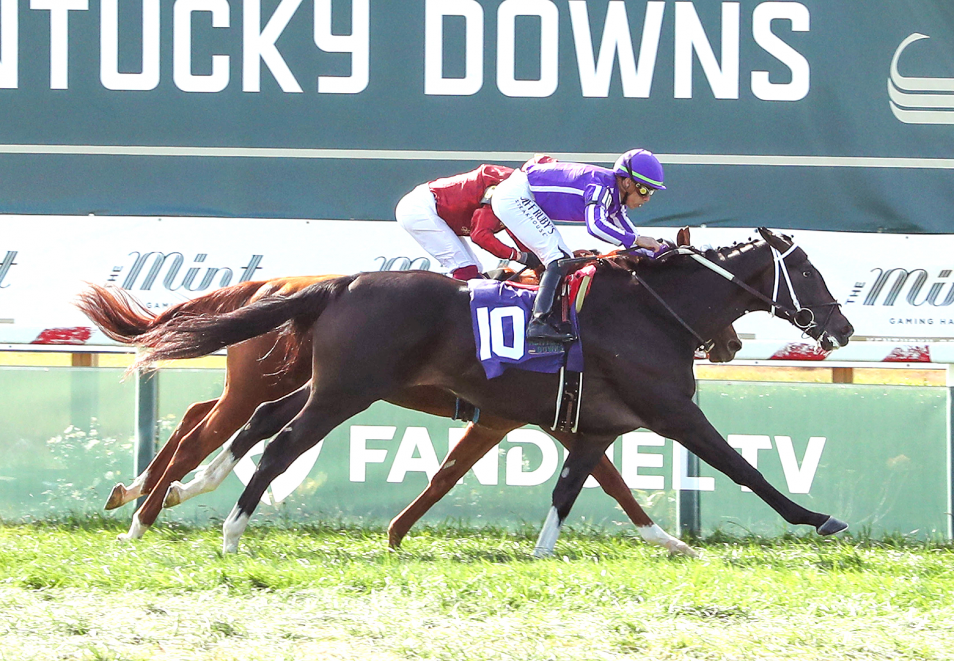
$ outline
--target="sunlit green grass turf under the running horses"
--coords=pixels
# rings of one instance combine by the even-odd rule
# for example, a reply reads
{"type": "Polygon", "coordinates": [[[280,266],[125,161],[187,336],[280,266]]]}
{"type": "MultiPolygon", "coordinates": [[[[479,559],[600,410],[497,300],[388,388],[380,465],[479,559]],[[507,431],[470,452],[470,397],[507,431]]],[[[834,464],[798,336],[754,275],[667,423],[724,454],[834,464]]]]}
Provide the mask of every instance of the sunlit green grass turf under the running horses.
{"type": "Polygon", "coordinates": [[[954,659],[954,547],[109,522],[0,527],[6,659],[954,659]]]}

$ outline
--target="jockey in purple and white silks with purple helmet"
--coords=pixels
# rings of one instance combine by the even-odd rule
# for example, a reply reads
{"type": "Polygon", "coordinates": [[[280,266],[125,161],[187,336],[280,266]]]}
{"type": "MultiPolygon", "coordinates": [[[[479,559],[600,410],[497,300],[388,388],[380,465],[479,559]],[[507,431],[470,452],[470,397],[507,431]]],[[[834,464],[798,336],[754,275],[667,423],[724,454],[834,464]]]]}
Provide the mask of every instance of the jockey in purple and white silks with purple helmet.
{"type": "Polygon", "coordinates": [[[527,326],[528,341],[573,340],[569,329],[550,319],[556,288],[563,278],[557,261],[572,255],[553,220],[585,222],[593,237],[624,248],[661,249],[642,237],[626,216],[665,190],[662,164],[645,149],[633,149],[616,159],[612,170],[585,163],[554,162],[515,171],[491,199],[493,213],[524,243],[547,270],[527,326]]]}

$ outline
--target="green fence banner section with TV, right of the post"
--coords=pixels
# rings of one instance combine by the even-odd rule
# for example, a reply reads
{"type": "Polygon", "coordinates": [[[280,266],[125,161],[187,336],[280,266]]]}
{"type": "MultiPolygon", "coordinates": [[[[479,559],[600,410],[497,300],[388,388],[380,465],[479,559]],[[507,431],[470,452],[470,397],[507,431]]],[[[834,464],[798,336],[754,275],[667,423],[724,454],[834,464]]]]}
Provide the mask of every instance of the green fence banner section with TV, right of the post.
{"type": "MultiPolygon", "coordinates": [[[[699,400],[722,435],[798,504],[854,532],[949,536],[945,388],[700,382],[699,400]]],[[[705,530],[788,529],[755,494],[707,465],[701,473],[715,478],[715,490],[700,494],[705,530]]]]}

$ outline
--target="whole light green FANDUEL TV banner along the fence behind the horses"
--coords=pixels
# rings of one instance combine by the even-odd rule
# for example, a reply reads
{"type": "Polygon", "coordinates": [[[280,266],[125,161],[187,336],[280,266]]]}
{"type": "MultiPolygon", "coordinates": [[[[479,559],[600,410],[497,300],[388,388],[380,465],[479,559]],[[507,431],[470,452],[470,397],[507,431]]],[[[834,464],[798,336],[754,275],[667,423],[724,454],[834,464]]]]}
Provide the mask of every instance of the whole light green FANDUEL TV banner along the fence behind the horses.
{"type": "MultiPolygon", "coordinates": [[[[115,482],[129,484],[135,384],[120,382],[120,375],[117,369],[0,368],[0,517],[97,511],[115,482]]],[[[219,370],[162,370],[161,440],[190,403],[218,397],[221,384],[219,370]]],[[[946,388],[699,382],[699,401],[729,443],[798,503],[844,519],[856,532],[949,536],[946,388]]],[[[276,479],[256,517],[384,524],[425,488],[463,427],[376,403],[276,479]]],[[[162,517],[197,524],[224,517],[261,449],[217,491],[162,517]]],[[[708,466],[701,477],[686,475],[684,451],[651,432],[624,435],[611,454],[639,502],[670,530],[679,489],[699,491],[704,532],[789,529],[754,494],[708,466]]],[[[511,432],[424,521],[536,526],[563,459],[562,448],[539,429],[511,432]]],[[[114,516],[128,518],[130,507],[114,516]]],[[[575,526],[615,529],[626,521],[592,480],[570,516],[575,526]]]]}

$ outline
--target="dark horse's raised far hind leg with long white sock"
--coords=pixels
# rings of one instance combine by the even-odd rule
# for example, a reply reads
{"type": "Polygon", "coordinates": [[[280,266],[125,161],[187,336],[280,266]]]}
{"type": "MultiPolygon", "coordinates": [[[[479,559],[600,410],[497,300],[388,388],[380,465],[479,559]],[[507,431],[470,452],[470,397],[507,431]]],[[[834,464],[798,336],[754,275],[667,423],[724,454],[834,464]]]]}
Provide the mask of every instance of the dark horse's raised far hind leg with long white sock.
{"type": "Polygon", "coordinates": [[[163,506],[172,507],[183,503],[197,495],[207,493],[218,488],[228,477],[233,468],[239,464],[250,449],[259,441],[279,433],[281,427],[292,420],[301,411],[301,407],[308,401],[311,394],[311,384],[305,383],[295,392],[285,395],[275,402],[260,404],[252,419],[241,428],[238,434],[226,444],[222,451],[212,460],[195,479],[188,484],[174,482],[169,486],[163,506]]]}

